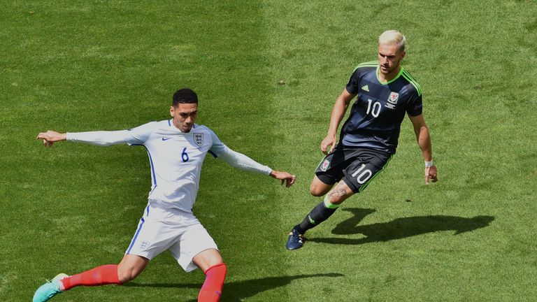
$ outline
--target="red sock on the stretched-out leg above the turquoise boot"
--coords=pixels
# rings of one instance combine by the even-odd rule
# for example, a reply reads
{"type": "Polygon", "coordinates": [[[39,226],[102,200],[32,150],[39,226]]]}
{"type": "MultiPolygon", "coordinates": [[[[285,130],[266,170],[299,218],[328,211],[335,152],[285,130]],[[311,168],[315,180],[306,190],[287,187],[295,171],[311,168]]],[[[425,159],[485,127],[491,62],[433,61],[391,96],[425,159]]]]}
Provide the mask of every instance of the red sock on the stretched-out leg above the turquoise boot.
{"type": "Polygon", "coordinates": [[[73,287],[83,286],[99,286],[108,284],[121,285],[120,278],[117,277],[117,265],[108,264],[99,266],[85,271],[77,275],[72,275],[60,280],[63,288],[62,291],[69,290],[73,287]]]}

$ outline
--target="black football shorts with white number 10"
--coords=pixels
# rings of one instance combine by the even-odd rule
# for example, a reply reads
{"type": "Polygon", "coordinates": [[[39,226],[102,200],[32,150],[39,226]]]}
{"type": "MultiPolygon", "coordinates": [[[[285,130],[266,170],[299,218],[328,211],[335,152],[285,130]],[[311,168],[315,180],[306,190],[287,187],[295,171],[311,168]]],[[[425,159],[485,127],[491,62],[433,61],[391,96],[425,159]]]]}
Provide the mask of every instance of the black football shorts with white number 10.
{"type": "Polygon", "coordinates": [[[338,145],[322,159],[315,175],[327,185],[343,179],[352,192],[359,193],[384,170],[392,156],[380,150],[338,145]]]}

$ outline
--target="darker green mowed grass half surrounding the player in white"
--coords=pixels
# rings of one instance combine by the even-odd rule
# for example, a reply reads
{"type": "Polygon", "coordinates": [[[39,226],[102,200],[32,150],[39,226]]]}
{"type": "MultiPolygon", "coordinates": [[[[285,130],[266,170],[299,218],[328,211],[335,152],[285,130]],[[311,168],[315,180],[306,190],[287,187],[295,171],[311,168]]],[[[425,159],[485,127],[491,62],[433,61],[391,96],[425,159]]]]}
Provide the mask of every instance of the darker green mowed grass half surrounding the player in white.
{"type": "MultiPolygon", "coordinates": [[[[166,119],[171,94],[186,86],[199,92],[200,124],[274,166],[259,3],[12,4],[8,10],[19,13],[3,19],[3,126],[16,134],[2,159],[1,194],[9,201],[3,210],[10,213],[1,224],[9,243],[2,247],[4,300],[28,300],[59,271],[119,261],[150,186],[143,148],[60,143],[45,150],[34,141],[38,131],[125,129],[166,119]]],[[[267,231],[279,184],[210,157],[203,170],[194,211],[229,264],[224,299],[279,286],[255,281],[275,277],[265,263],[279,267],[267,231]]],[[[131,287],[79,288],[57,299],[189,301],[202,282],[203,273],[182,273],[165,253],[131,287]]]]}

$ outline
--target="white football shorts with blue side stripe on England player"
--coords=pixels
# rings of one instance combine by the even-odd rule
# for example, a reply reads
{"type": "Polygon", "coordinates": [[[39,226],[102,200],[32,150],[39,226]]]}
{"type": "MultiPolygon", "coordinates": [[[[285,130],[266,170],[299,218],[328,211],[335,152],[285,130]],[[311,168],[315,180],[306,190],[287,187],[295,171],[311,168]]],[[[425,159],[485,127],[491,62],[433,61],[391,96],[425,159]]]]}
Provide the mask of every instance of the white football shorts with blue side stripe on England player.
{"type": "Polygon", "coordinates": [[[170,250],[173,258],[188,273],[198,268],[192,258],[211,248],[218,250],[215,240],[194,214],[169,210],[150,201],[125,254],[151,260],[170,250]]]}

